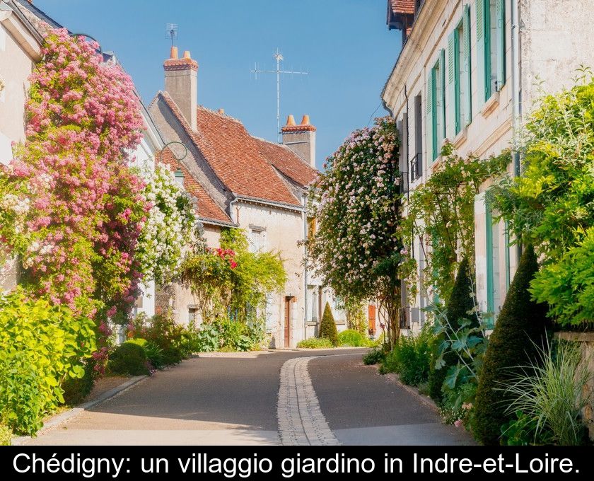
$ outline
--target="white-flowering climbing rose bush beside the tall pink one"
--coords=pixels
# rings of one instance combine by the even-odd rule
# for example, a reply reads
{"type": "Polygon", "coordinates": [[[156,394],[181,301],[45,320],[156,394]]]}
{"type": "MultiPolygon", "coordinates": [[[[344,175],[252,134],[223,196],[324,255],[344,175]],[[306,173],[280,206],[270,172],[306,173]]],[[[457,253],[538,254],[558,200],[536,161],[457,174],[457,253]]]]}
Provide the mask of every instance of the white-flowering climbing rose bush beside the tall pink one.
{"type": "Polygon", "coordinates": [[[136,246],[144,281],[170,282],[177,274],[187,247],[200,239],[201,224],[194,199],[175,182],[169,166],[157,163],[144,169],[144,197],[151,209],[136,246]]]}

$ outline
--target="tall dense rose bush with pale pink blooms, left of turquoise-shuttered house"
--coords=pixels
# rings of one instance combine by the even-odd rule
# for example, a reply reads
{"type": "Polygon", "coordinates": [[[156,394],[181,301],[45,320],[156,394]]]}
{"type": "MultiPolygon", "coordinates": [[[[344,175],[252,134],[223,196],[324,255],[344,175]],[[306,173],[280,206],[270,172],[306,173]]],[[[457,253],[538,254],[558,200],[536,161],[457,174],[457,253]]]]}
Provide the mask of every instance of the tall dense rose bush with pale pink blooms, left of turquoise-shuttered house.
{"type": "Polygon", "coordinates": [[[395,120],[384,117],[353,132],[327,159],[310,196],[318,231],[308,242],[312,268],[344,299],[378,298],[388,331],[398,336],[402,195],[395,120]]]}

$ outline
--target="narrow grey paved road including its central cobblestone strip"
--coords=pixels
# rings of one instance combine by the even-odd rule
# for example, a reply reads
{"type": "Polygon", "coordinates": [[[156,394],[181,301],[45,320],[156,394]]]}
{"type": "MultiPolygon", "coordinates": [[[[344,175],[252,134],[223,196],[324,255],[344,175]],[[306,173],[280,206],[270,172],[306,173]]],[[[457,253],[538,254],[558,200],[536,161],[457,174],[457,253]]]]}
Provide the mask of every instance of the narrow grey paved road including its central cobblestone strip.
{"type": "Polygon", "coordinates": [[[156,373],[29,444],[465,444],[361,349],[221,353],[156,373]],[[300,359],[295,359],[300,358],[300,359]]]}

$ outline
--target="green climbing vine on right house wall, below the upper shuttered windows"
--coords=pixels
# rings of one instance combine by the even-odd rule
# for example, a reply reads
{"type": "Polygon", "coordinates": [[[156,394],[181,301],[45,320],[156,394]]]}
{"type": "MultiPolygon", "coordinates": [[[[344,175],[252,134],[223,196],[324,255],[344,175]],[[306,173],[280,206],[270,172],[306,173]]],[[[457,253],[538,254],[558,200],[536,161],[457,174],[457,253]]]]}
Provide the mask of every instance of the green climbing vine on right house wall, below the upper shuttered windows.
{"type": "MultiPolygon", "coordinates": [[[[402,236],[407,245],[418,238],[424,249],[423,288],[449,299],[458,263],[463,258],[474,259],[474,196],[485,180],[505,172],[510,155],[505,151],[487,160],[463,158],[451,144],[443,146],[441,155],[429,179],[409,196],[402,236]]],[[[407,249],[400,271],[413,296],[416,270],[417,262],[407,249]]]]}

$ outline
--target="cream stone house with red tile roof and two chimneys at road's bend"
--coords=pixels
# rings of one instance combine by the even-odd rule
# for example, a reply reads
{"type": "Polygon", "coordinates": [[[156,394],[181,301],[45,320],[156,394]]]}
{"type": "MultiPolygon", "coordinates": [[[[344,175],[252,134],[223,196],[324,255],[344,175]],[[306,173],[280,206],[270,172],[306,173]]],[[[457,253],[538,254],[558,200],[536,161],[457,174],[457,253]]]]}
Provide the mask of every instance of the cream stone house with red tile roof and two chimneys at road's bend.
{"type": "MultiPolygon", "coordinates": [[[[313,225],[305,209],[308,185],[318,174],[315,127],[308,116],[299,125],[290,116],[282,132],[286,144],[252,137],[222,109],[199,105],[198,64],[190,52],[179,58],[173,47],[163,68],[165,91],[148,109],[165,140],[187,149],[171,144],[164,159],[197,199],[207,245],[219,245],[221,229],[240,228],[252,249],[279,253],[288,282],[269,296],[267,331],[272,347],[295,347],[317,332],[324,303],[332,300],[303,265],[302,241],[313,225]]],[[[170,286],[158,298],[162,308],[173,308],[178,323],[202,322],[194,296],[182,286],[170,286]]]]}

